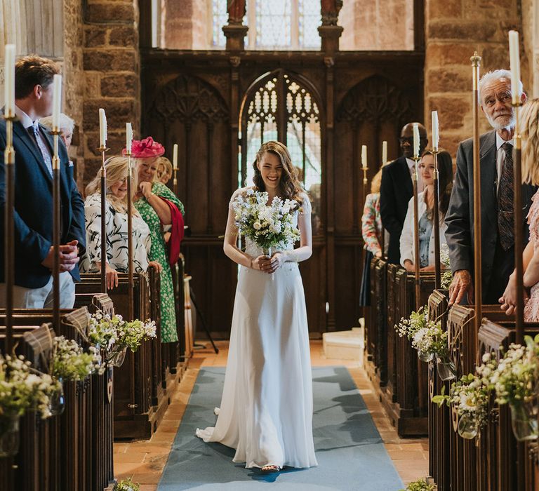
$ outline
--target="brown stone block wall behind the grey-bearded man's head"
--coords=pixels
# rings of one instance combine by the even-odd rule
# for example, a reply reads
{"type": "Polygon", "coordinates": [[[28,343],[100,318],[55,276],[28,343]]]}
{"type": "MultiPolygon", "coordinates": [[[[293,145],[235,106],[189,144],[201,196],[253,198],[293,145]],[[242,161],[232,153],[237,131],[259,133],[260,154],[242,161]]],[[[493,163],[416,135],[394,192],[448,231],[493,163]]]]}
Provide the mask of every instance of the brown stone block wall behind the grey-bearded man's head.
{"type": "MultiPolygon", "coordinates": [[[[472,136],[470,57],[474,50],[481,55],[481,74],[509,68],[507,32],[521,30],[520,4],[520,0],[427,0],[425,3],[425,125],[430,128],[430,114],[436,109],[440,145],[453,156],[458,142],[472,136]]],[[[528,90],[530,76],[524,58],[521,67],[528,90]]],[[[488,128],[481,116],[481,130],[488,128]]]]}

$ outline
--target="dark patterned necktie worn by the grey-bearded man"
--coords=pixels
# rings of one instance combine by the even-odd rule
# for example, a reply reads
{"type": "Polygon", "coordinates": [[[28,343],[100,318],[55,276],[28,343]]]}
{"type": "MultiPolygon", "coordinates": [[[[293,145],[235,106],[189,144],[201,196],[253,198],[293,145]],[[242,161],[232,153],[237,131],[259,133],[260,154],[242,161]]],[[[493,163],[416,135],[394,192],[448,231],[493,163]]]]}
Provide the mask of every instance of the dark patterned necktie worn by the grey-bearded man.
{"type": "Polygon", "coordinates": [[[505,152],[503,168],[498,187],[498,233],[503,250],[508,250],[514,243],[514,175],[513,175],[513,146],[505,142],[502,145],[505,152]]]}

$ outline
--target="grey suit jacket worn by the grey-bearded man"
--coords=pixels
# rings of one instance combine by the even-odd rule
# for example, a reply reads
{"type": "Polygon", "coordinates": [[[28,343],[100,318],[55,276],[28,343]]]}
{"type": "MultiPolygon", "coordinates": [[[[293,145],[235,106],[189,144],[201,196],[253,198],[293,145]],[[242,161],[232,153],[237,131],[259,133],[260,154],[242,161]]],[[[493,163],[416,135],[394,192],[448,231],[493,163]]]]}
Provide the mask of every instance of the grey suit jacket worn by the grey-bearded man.
{"type": "MultiPolygon", "coordinates": [[[[491,279],[495,245],[498,239],[498,199],[496,195],[496,133],[490,131],[479,138],[481,164],[481,265],[483,292],[491,279]]],[[[451,270],[474,271],[474,179],[473,139],[461,142],[457,151],[457,173],[446,213],[446,241],[449,248],[451,270]]],[[[526,215],[535,187],[522,184],[522,217],[524,218],[524,244],[528,242],[526,215]]],[[[514,264],[514,255],[503,258],[507,265],[514,264]]],[[[505,264],[505,263],[504,263],[505,264]]]]}

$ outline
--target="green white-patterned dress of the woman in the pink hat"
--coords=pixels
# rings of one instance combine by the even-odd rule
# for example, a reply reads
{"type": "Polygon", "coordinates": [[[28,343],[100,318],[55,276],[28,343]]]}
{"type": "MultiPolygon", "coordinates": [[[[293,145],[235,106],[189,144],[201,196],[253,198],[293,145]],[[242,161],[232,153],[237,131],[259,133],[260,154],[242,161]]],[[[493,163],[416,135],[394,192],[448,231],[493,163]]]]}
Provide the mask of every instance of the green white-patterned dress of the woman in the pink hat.
{"type": "MultiPolygon", "coordinates": [[[[183,215],[184,208],[182,203],[165,184],[154,182],[152,192],[174,203],[183,215]]],[[[152,237],[149,260],[157,261],[163,267],[161,271],[161,342],[175,342],[178,341],[178,331],[176,330],[174,287],[171,267],[168,264],[168,257],[166,255],[166,243],[163,238],[161,220],[159,220],[159,215],[152,208],[152,205],[144,197],[135,201],[135,208],[137,208],[142,218],[148,224],[150,236],[152,237]]]]}

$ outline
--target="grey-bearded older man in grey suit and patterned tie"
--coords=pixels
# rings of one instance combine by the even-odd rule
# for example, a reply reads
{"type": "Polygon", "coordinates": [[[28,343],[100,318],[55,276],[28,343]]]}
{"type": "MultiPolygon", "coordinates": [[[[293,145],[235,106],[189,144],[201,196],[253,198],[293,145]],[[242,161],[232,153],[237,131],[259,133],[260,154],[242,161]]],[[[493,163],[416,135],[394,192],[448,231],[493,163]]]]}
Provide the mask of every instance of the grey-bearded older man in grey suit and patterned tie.
{"type": "MultiPolygon", "coordinates": [[[[479,83],[481,110],[494,130],[479,138],[481,172],[481,288],[484,304],[497,304],[514,269],[514,196],[512,145],[514,109],[511,105],[511,74],[495,70],[479,83]]],[[[522,94],[522,102],[526,95],[522,94]]],[[[535,188],[522,185],[521,211],[528,214],[535,188]]],[[[446,213],[446,241],[453,271],[450,303],[473,299],[474,269],[473,140],[461,142],[457,172],[446,213]]],[[[524,243],[528,227],[524,223],[524,243]]]]}

